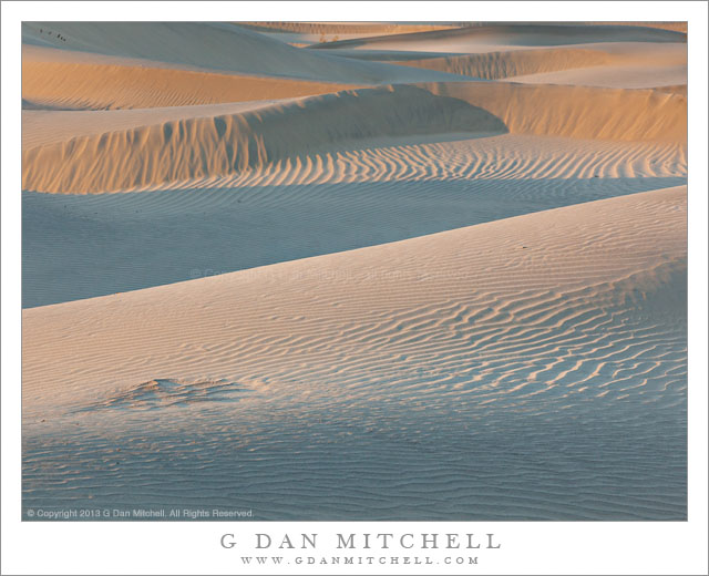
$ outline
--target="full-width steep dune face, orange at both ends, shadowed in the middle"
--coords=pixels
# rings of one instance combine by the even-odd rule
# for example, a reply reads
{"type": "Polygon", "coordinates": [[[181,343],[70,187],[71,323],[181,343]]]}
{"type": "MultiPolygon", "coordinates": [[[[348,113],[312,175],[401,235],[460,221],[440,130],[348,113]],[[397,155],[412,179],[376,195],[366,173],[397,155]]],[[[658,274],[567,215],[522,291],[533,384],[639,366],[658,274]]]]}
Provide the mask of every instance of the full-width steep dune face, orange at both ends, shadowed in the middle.
{"type": "Polygon", "coordinates": [[[22,187],[126,191],[264,167],[383,135],[510,131],[682,144],[686,114],[686,97],[653,91],[493,83],[364,89],[23,150],[22,187]]]}

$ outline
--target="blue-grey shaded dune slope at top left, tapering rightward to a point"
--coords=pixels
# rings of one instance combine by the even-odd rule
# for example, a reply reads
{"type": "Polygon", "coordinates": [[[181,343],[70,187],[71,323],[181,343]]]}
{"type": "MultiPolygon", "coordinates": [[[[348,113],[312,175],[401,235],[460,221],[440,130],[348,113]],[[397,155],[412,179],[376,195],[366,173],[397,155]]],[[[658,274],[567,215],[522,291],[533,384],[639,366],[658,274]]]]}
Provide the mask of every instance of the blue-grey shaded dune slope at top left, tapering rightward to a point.
{"type": "Polygon", "coordinates": [[[425,80],[410,68],[300,50],[224,22],[24,22],[22,43],[210,72],[347,84],[425,80]]]}

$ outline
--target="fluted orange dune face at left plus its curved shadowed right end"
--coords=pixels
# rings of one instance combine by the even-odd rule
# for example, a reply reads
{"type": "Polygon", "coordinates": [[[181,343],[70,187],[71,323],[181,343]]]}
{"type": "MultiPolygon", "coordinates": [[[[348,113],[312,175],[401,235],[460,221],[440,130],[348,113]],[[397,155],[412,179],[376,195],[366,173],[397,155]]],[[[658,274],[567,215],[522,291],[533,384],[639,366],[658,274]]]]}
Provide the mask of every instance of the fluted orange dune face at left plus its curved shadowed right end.
{"type": "Polygon", "coordinates": [[[113,192],[224,175],[377,136],[504,132],[461,100],[414,86],[312,96],[257,111],[75,137],[23,152],[23,189],[113,192]]]}

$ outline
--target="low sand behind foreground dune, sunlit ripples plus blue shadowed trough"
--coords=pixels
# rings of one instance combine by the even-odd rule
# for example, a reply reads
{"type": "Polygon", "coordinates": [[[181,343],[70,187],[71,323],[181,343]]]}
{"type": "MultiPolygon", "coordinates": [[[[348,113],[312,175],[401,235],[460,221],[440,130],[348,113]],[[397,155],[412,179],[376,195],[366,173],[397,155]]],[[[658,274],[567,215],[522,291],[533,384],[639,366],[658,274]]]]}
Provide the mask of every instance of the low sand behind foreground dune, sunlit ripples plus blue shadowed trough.
{"type": "Polygon", "coordinates": [[[401,240],[687,177],[679,145],[441,140],[364,142],[135,194],[25,193],[23,306],[401,240]]]}

